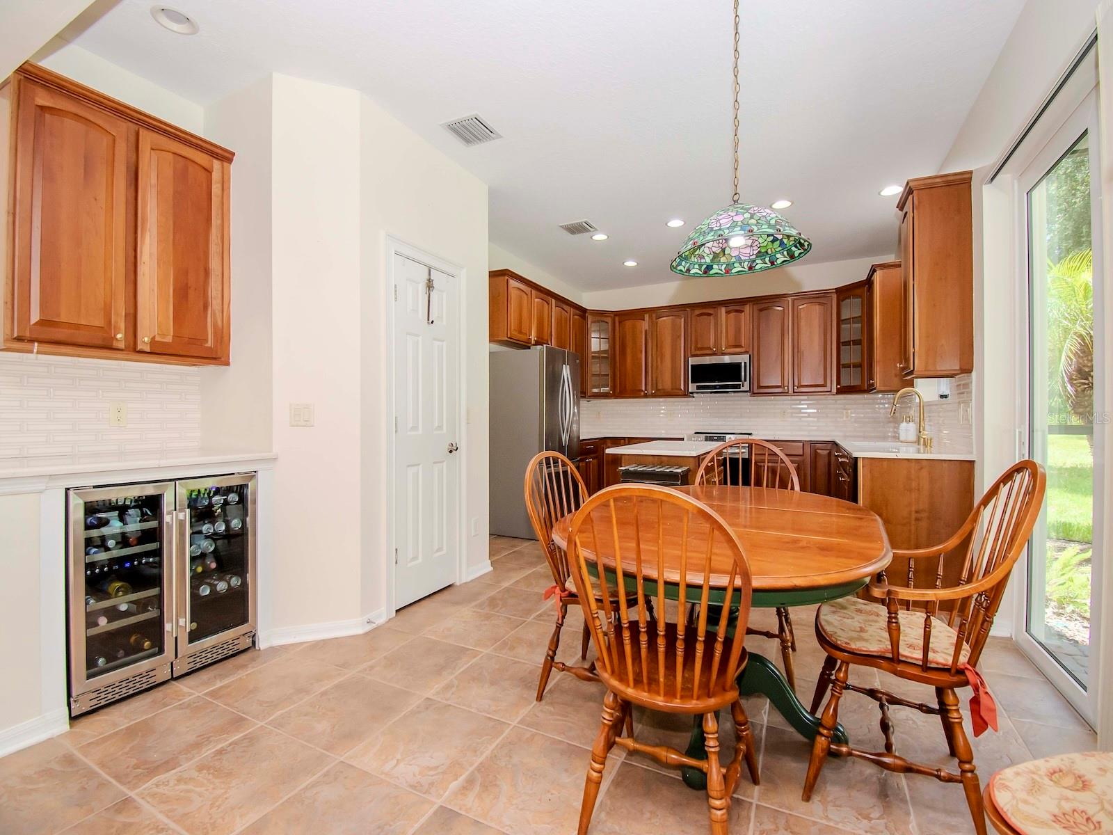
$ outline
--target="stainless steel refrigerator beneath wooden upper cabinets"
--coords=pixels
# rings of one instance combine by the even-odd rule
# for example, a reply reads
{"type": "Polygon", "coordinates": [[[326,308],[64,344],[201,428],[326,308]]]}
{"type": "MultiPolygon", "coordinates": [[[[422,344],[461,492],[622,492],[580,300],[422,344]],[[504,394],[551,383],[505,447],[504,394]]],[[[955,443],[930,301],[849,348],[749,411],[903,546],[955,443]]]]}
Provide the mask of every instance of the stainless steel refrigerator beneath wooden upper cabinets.
{"type": "Polygon", "coordinates": [[[539,345],[491,352],[491,533],[534,539],[525,465],[542,450],[580,456],[580,356],[539,345]]]}

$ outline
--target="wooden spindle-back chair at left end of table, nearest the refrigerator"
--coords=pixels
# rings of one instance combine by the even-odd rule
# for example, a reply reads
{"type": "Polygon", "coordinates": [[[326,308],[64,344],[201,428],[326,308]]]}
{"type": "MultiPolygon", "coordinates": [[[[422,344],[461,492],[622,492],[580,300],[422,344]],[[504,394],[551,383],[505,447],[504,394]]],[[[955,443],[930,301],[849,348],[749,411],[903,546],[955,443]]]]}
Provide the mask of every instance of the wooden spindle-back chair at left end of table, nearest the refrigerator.
{"type": "MultiPolygon", "coordinates": [[[[580,473],[569,459],[559,452],[544,451],[533,456],[525,466],[525,508],[530,514],[533,532],[536,534],[545,552],[549,570],[553,576],[553,584],[545,590],[545,599],[553,598],[556,609],[556,622],[553,627],[545,659],[541,664],[541,679],[538,681],[538,701],[544,696],[549,676],[553,669],[560,672],[571,672],[587,681],[598,681],[590,667],[579,667],[556,660],[560,648],[561,629],[568,615],[569,606],[579,605],[575,587],[570,581],[568,556],[563,549],[553,542],[553,525],[558,520],[574,513],[588,498],[588,488],[580,473]]],[[[591,636],[588,625],[583,625],[583,636],[580,642],[580,660],[588,657],[591,636]]]]}

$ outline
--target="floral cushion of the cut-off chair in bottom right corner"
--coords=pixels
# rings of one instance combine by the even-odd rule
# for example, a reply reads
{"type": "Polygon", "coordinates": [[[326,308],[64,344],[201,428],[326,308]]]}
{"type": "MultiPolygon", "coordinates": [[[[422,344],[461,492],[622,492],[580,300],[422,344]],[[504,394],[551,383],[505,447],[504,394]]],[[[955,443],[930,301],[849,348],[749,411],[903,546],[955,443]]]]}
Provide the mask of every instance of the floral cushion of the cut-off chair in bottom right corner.
{"type": "Polygon", "coordinates": [[[1024,835],[1113,832],[1113,754],[1063,754],[1011,766],[993,775],[988,794],[1024,835]]]}

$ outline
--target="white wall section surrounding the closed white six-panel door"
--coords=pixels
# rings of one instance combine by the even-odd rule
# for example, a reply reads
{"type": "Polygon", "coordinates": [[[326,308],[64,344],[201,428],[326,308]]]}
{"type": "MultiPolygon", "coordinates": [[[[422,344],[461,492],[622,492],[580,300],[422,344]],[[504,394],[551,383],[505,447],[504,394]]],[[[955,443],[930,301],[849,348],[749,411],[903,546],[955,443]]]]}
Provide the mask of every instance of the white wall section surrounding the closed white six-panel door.
{"type": "Polygon", "coordinates": [[[487,559],[487,188],[367,98],[361,100],[361,129],[363,596],[364,611],[373,612],[385,603],[386,493],[393,489],[386,470],[392,416],[384,410],[391,383],[385,311],[392,303],[386,235],[464,269],[461,512],[469,567],[487,559]]]}

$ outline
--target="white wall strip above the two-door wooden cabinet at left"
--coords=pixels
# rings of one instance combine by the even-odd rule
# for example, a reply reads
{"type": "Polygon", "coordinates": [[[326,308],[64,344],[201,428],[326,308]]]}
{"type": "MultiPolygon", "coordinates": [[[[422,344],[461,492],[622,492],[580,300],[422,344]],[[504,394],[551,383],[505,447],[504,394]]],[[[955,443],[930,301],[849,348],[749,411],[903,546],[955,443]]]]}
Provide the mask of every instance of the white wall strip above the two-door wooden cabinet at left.
{"type": "Polygon", "coordinates": [[[205,109],[200,105],[61,38],[51,40],[31,60],[179,128],[207,136],[205,109]]]}

